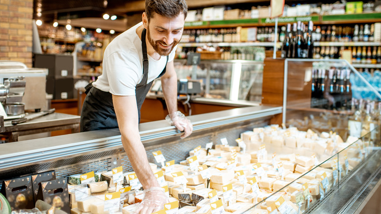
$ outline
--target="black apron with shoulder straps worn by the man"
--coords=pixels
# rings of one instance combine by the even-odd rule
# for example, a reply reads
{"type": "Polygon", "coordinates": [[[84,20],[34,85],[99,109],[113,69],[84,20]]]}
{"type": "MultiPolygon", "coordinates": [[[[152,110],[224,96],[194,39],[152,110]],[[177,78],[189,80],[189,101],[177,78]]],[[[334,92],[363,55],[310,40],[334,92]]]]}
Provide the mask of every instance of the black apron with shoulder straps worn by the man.
{"type": "MultiPolygon", "coordinates": [[[[142,51],[143,51],[143,78],[142,81],[135,87],[136,104],[138,107],[139,123],[140,123],[140,109],[152,82],[147,83],[148,80],[148,56],[146,45],[146,28],[142,31],[142,51]]],[[[168,56],[167,56],[168,63],[168,56]]],[[[167,70],[167,65],[164,67],[161,77],[167,70]]],[[[112,94],[110,92],[102,91],[93,87],[90,83],[85,87],[86,98],[81,112],[81,132],[92,131],[106,128],[118,128],[114,105],[112,103],[112,94]]]]}

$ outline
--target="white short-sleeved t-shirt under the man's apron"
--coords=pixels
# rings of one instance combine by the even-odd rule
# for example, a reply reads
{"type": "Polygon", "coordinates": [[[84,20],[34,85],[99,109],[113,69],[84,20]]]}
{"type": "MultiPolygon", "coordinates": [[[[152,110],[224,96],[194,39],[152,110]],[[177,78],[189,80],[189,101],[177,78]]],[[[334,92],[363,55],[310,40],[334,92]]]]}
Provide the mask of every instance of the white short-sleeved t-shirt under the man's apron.
{"type": "MultiPolygon", "coordinates": [[[[135,86],[143,79],[142,41],[136,34],[136,28],[142,24],[136,24],[108,44],[103,57],[103,74],[93,86],[114,95],[135,95],[135,86]]],[[[168,62],[174,59],[176,48],[177,45],[170,52],[168,62]]],[[[160,75],[166,62],[165,56],[154,60],[148,55],[147,83],[160,75]]]]}

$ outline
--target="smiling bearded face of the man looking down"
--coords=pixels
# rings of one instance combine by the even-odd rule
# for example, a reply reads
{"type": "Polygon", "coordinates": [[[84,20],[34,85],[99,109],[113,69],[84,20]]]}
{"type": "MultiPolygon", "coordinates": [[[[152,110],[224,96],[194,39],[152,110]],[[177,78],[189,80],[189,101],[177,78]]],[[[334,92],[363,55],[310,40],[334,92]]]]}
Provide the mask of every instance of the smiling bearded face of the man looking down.
{"type": "Polygon", "coordinates": [[[168,56],[174,46],[180,42],[184,29],[184,14],[167,18],[154,14],[147,28],[148,41],[161,56],[168,56]]]}

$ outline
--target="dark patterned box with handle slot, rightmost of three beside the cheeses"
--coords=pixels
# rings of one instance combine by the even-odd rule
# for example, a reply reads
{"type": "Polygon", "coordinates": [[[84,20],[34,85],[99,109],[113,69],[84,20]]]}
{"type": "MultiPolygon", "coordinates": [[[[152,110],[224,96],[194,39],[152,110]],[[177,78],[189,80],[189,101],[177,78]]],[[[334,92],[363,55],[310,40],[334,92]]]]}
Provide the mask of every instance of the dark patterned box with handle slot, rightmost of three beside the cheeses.
{"type": "Polygon", "coordinates": [[[66,178],[41,182],[37,198],[56,209],[70,213],[70,197],[66,178]]]}

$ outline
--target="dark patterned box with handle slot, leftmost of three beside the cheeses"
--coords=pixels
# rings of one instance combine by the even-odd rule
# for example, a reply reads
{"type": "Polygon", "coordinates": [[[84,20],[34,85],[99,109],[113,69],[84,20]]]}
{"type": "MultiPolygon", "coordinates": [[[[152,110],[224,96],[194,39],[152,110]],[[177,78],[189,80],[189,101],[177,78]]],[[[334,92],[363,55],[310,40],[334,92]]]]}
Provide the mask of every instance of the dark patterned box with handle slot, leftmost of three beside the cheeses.
{"type": "Polygon", "coordinates": [[[4,180],[1,193],[7,198],[12,211],[35,207],[31,176],[4,180]]]}

